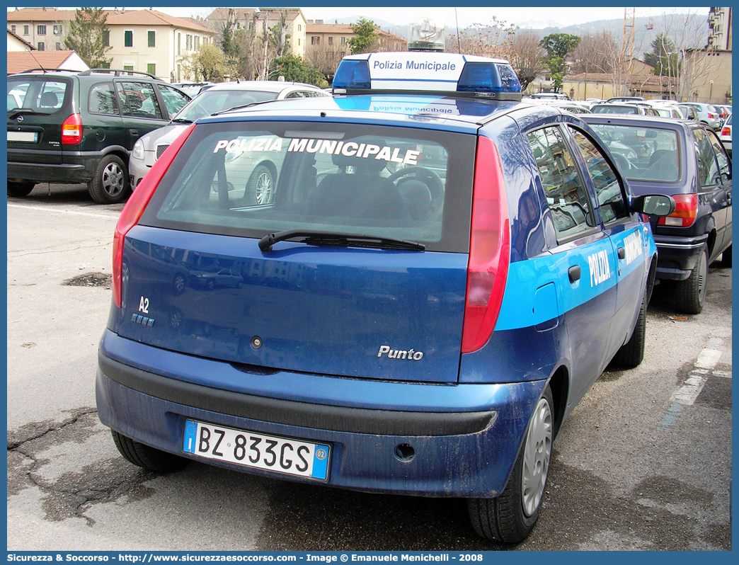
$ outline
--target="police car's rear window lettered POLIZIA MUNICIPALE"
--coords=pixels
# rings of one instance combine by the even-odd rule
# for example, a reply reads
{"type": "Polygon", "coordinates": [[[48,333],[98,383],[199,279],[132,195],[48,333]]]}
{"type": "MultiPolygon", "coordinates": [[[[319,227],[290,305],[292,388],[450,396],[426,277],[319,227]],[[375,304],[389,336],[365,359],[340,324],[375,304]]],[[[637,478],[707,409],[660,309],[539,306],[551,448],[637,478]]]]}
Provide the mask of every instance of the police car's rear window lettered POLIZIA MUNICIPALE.
{"type": "Polygon", "coordinates": [[[140,223],[259,238],[338,231],[466,252],[476,141],[366,124],[200,124],[140,223]]]}

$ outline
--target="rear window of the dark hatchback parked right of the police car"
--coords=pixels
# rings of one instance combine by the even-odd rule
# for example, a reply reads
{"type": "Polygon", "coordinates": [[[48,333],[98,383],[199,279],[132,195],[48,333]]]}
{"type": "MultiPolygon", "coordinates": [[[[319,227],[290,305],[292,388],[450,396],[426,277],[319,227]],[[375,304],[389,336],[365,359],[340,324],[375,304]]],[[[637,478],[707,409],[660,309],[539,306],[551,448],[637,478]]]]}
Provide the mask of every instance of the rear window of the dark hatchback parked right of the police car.
{"type": "Polygon", "coordinates": [[[678,132],[641,126],[590,124],[628,180],[674,183],[681,177],[678,132]]]}

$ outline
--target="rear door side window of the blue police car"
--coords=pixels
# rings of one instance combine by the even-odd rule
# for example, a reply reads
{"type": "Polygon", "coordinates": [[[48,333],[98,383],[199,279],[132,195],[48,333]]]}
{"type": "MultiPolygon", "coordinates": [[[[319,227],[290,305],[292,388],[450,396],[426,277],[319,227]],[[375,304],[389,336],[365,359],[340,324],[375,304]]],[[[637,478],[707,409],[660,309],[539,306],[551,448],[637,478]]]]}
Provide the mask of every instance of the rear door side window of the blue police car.
{"type": "Polygon", "coordinates": [[[588,231],[595,225],[588,192],[559,126],[537,129],[527,137],[537,161],[557,240],[562,243],[588,231]]]}

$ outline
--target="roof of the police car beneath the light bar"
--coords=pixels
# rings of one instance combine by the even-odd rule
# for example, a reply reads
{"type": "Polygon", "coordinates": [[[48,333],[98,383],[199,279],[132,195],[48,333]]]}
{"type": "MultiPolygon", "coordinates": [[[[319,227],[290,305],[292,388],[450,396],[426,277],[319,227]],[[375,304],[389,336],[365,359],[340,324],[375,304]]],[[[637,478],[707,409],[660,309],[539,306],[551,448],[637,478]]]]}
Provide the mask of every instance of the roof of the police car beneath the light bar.
{"type": "Polygon", "coordinates": [[[316,119],[333,117],[341,112],[342,120],[401,123],[408,126],[411,118],[415,120],[413,125],[417,127],[471,131],[514,110],[526,109],[531,113],[538,112],[539,115],[542,115],[542,112],[550,112],[553,116],[562,115],[562,111],[555,106],[518,101],[440,95],[358,94],[268,101],[200,118],[198,122],[275,119],[286,116],[296,119],[316,119]]]}

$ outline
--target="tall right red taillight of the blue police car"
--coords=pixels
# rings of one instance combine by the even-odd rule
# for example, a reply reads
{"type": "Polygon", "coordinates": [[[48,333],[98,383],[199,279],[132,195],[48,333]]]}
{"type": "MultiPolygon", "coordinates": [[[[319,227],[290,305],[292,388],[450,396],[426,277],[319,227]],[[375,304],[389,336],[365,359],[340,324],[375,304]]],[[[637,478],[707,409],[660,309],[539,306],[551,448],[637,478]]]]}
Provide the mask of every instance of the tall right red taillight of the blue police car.
{"type": "Polygon", "coordinates": [[[508,278],[509,231],[500,155],[489,138],[480,137],[474,163],[462,353],[482,348],[495,328],[508,278]]]}

